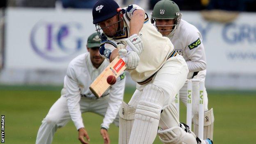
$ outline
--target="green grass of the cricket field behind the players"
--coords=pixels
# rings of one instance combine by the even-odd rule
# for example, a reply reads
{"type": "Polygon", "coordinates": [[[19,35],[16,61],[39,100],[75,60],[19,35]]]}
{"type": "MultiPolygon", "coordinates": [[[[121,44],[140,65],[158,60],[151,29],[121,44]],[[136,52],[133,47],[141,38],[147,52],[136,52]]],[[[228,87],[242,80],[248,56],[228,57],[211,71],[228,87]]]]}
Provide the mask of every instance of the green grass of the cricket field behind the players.
{"type": "MultiPolygon", "coordinates": [[[[0,114],[5,115],[6,144],[34,144],[37,130],[53,103],[59,98],[61,87],[2,86],[0,85],[0,114]]],[[[125,101],[133,94],[126,89],[125,101]]],[[[208,107],[214,108],[215,144],[254,144],[256,131],[256,91],[210,91],[208,107]]],[[[99,128],[102,117],[82,114],[90,144],[102,144],[99,128]]],[[[185,121],[185,107],[181,105],[181,121],[185,121]]],[[[109,129],[112,144],[118,143],[118,128],[109,129]]],[[[80,144],[78,132],[70,121],[55,133],[53,144],[80,144]]],[[[161,144],[156,138],[154,144],[161,144]]]]}

